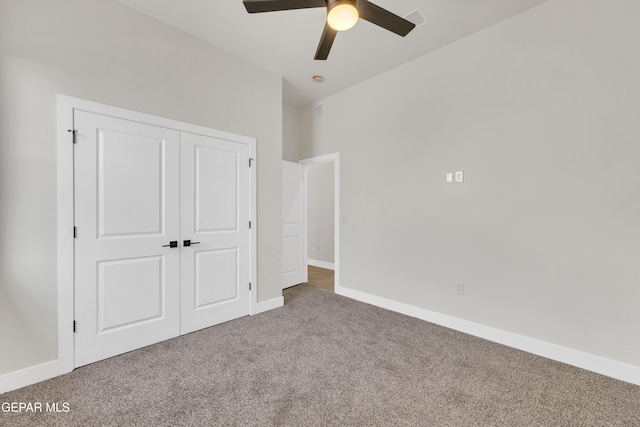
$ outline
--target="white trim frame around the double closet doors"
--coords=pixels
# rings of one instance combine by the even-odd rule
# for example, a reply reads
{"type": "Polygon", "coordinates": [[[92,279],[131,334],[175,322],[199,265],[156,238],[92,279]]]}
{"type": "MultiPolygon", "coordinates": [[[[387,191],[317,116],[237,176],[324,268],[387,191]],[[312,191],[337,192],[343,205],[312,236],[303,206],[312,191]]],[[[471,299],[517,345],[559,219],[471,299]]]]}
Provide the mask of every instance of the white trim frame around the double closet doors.
{"type": "MultiPolygon", "coordinates": [[[[74,194],[73,194],[73,134],[74,111],[87,111],[155,126],[166,127],[178,131],[190,132],[214,138],[226,139],[250,147],[250,157],[256,158],[256,139],[235,135],[215,129],[192,125],[150,114],[139,113],[97,102],[73,98],[66,95],[57,97],[58,130],[57,130],[57,166],[58,166],[58,374],[71,372],[75,367],[74,360],[74,194]]],[[[256,162],[257,163],[257,162],[256,162]]],[[[252,283],[249,314],[260,311],[258,306],[257,277],[257,209],[256,209],[256,167],[251,168],[251,220],[250,232],[250,280],[252,283]]]]}

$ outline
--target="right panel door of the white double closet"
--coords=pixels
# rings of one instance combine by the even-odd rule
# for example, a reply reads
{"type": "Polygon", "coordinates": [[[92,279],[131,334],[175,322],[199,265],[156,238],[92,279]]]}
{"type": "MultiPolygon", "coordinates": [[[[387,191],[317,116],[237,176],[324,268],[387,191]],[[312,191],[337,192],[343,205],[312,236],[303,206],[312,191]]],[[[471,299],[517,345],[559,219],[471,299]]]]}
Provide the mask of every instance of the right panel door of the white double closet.
{"type": "Polygon", "coordinates": [[[251,174],[245,144],[183,132],[180,146],[185,334],[249,314],[251,174]]]}

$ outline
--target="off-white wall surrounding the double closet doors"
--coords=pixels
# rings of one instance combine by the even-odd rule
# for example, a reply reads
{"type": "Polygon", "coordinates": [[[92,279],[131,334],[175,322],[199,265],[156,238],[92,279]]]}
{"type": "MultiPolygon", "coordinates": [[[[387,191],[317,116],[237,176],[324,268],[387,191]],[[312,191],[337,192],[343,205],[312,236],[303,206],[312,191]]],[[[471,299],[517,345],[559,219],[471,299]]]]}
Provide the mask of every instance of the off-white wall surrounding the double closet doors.
{"type": "Polygon", "coordinates": [[[57,358],[56,94],[258,140],[258,299],[281,296],[281,77],[109,0],[0,3],[0,374],[57,358]]]}

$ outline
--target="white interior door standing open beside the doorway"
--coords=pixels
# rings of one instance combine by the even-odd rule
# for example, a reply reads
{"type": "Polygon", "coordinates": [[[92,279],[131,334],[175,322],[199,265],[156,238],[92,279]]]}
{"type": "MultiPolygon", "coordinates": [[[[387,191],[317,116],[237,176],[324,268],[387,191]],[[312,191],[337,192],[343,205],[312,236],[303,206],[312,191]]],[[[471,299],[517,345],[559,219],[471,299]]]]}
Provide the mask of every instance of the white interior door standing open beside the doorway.
{"type": "Polygon", "coordinates": [[[304,263],[304,166],[282,162],[282,287],[306,280],[304,263]]]}

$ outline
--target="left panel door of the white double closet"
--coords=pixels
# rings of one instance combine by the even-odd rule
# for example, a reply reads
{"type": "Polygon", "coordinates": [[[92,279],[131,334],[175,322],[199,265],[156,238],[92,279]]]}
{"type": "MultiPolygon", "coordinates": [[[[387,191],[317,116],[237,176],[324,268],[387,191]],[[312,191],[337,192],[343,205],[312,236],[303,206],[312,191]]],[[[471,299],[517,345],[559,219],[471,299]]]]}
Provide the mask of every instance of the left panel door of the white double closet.
{"type": "MultiPolygon", "coordinates": [[[[179,334],[179,132],[75,112],[75,366],[179,334]]],[[[248,304],[247,304],[248,305],[248,304]]]]}

